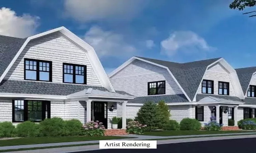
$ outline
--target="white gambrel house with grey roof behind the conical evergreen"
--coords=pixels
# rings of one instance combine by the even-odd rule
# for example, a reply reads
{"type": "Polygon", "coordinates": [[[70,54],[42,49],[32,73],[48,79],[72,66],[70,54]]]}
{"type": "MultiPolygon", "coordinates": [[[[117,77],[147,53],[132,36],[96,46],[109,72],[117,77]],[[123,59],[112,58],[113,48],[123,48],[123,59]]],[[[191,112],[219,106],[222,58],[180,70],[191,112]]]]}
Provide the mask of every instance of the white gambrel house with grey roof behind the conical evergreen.
{"type": "Polygon", "coordinates": [[[174,63],[132,57],[109,77],[115,90],[136,96],[127,103],[127,118],[134,118],[147,101],[165,100],[176,121],[189,117],[207,123],[215,116],[224,126],[228,119],[237,126],[255,117],[255,73],[256,67],[233,69],[223,58],[174,63]]]}

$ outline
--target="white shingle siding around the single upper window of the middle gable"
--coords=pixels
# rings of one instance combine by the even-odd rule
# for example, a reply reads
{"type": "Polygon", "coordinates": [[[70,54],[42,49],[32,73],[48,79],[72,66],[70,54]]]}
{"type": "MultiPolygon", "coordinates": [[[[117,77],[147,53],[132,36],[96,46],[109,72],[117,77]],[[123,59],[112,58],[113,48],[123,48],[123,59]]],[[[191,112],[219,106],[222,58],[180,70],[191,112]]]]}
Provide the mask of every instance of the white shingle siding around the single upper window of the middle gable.
{"type": "Polygon", "coordinates": [[[146,96],[148,82],[164,80],[166,94],[183,94],[166,69],[140,60],[134,60],[110,80],[115,90],[126,91],[134,96],[146,96]]]}

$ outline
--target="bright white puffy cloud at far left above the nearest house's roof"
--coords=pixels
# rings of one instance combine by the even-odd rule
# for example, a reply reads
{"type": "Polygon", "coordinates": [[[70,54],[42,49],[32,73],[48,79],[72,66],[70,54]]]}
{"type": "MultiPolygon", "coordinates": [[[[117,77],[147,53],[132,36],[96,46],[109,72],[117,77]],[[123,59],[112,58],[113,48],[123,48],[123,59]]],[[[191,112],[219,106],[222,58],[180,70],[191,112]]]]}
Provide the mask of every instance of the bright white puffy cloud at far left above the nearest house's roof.
{"type": "Polygon", "coordinates": [[[23,14],[17,16],[10,8],[0,8],[0,34],[24,38],[35,33],[38,27],[37,16],[23,14]]]}

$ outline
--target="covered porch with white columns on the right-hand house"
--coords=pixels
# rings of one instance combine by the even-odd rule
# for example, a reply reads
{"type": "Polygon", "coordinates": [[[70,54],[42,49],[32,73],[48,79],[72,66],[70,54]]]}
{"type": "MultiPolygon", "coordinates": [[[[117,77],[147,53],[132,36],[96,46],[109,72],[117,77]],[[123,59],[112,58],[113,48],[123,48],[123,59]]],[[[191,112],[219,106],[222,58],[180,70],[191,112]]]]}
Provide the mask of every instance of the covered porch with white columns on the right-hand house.
{"type": "Polygon", "coordinates": [[[238,106],[242,104],[244,103],[241,101],[234,101],[209,96],[198,101],[197,106],[206,107],[203,112],[203,116],[206,117],[204,120],[205,123],[210,121],[211,116],[214,116],[216,118],[216,121],[219,124],[223,124],[223,129],[225,129],[225,126],[229,126],[229,119],[234,120],[234,126],[238,126],[238,106]]]}

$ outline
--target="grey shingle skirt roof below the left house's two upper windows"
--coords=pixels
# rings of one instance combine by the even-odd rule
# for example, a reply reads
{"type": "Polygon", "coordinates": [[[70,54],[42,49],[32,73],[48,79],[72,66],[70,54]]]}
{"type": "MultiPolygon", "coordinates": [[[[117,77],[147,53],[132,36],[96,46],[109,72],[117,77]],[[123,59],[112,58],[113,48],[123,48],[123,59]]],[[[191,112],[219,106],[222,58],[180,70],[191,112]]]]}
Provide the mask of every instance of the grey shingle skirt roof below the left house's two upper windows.
{"type": "Polygon", "coordinates": [[[19,80],[3,80],[0,83],[0,92],[18,94],[62,95],[66,96],[86,88],[107,90],[99,86],[75,85],[53,82],[35,82],[19,80]]]}

